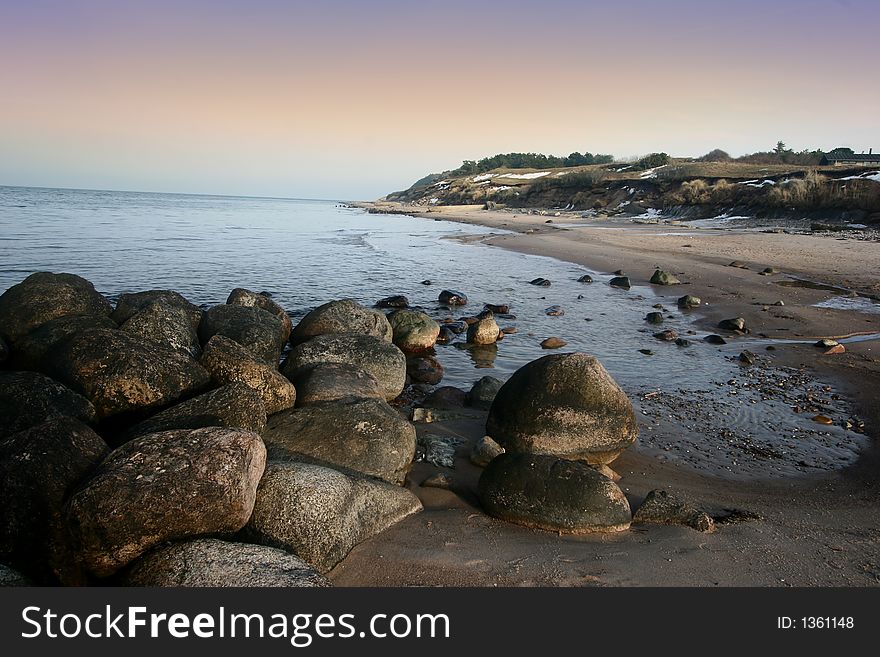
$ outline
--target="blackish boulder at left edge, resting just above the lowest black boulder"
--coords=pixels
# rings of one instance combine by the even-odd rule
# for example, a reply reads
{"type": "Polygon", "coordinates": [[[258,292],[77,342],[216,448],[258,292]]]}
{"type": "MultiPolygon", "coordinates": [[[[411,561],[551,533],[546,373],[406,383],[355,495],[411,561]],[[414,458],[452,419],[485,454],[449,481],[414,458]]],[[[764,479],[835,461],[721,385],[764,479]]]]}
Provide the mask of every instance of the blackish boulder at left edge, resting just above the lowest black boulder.
{"type": "Polygon", "coordinates": [[[0,372],[0,438],[59,417],[94,422],[95,407],[48,376],[0,372]]]}

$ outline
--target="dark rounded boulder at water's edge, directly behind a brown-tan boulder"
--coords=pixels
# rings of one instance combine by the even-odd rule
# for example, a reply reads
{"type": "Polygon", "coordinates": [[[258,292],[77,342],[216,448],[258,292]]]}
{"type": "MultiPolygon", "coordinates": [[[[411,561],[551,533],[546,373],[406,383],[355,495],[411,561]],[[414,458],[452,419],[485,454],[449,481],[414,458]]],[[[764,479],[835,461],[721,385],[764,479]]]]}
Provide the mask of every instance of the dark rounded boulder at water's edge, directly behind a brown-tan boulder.
{"type": "Polygon", "coordinates": [[[199,338],[205,344],[215,335],[235,340],[257,358],[278,367],[284,349],[284,323],[255,306],[220,304],[202,317],[199,338]]]}

